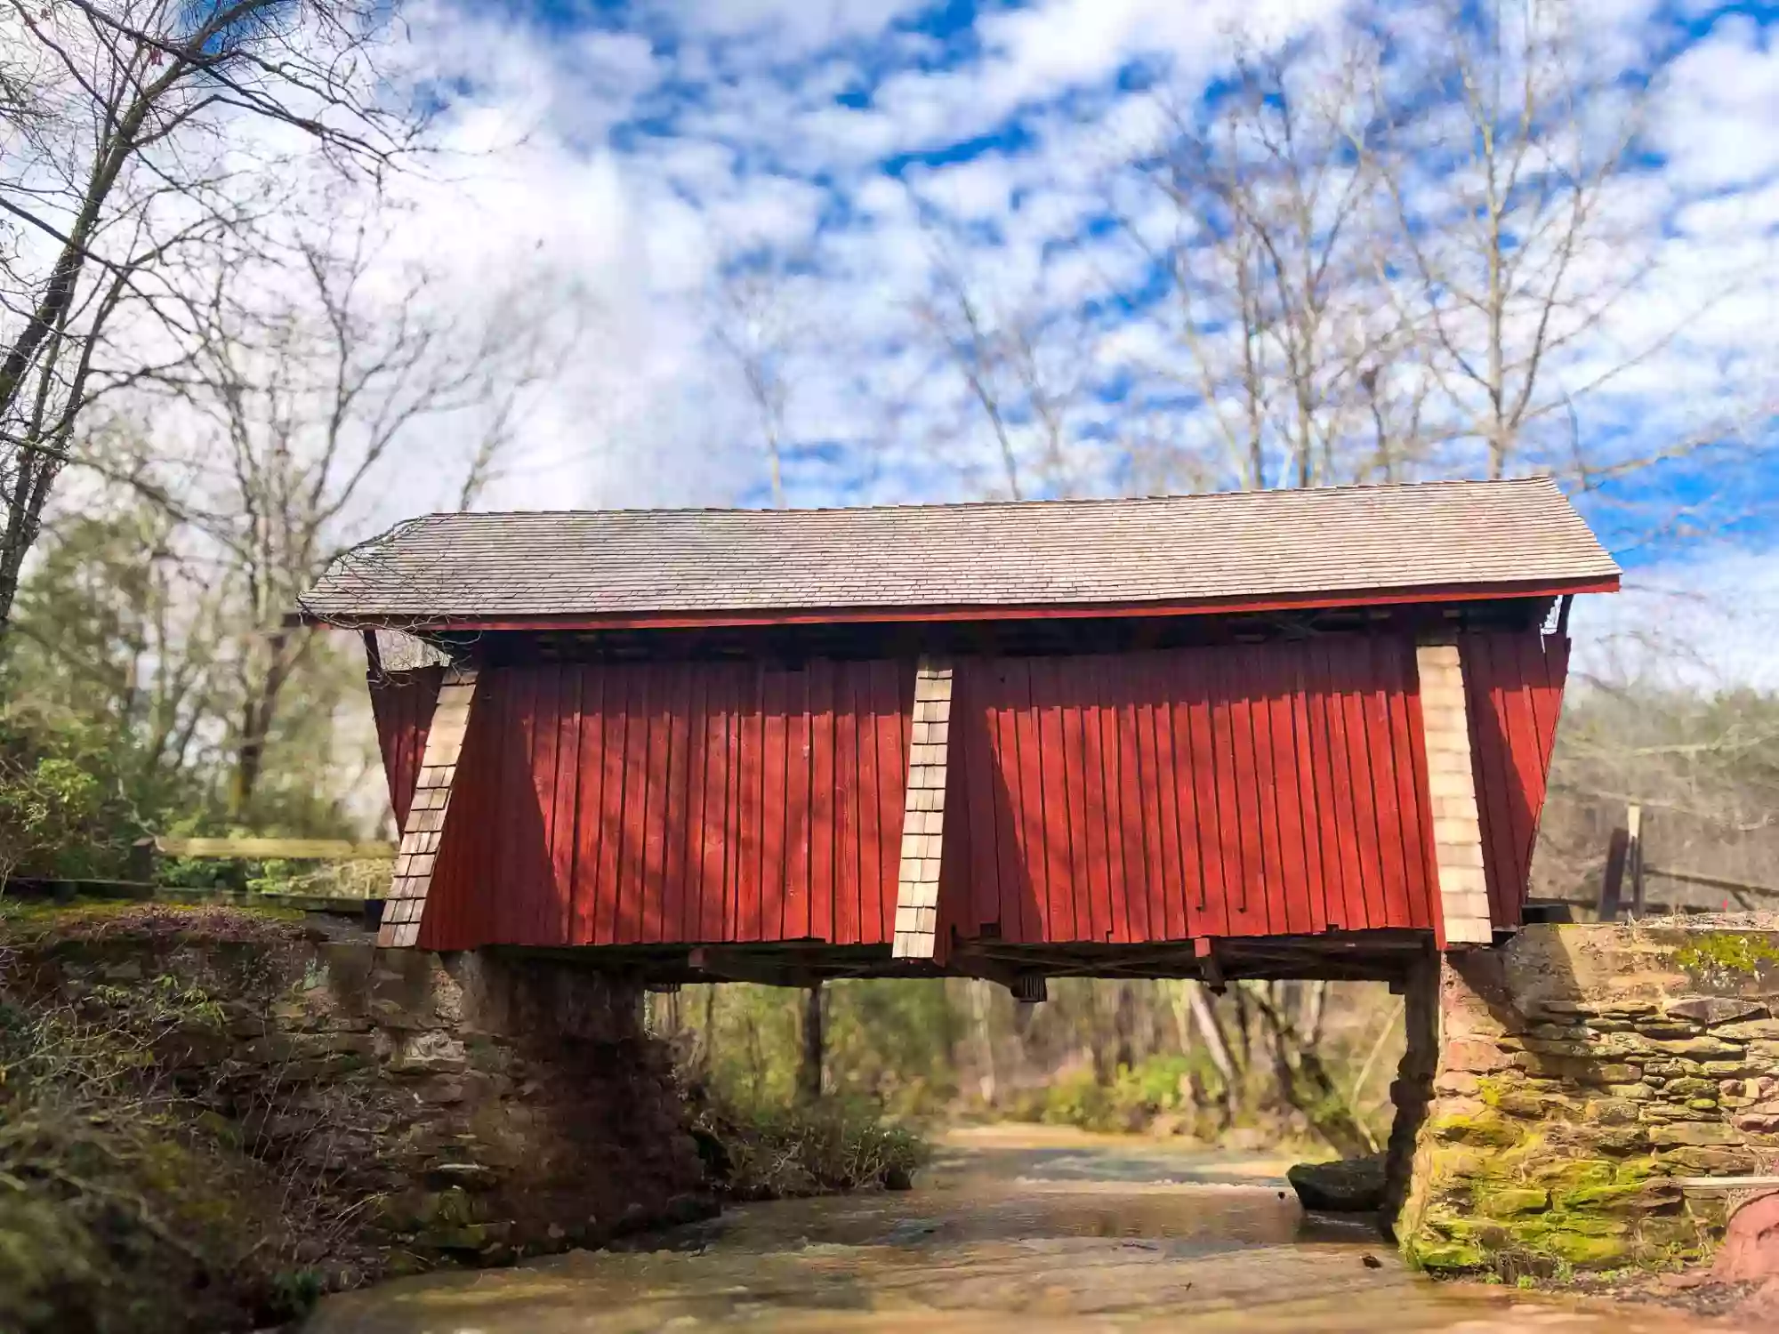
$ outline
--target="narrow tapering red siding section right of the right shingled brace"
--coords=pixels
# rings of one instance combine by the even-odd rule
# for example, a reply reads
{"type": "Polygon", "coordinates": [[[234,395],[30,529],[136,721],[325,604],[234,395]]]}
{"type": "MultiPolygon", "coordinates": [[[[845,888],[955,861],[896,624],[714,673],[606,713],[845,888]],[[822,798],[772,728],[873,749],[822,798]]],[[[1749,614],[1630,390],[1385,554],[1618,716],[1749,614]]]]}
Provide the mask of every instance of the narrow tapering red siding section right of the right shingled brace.
{"type": "Polygon", "coordinates": [[[1464,635],[1464,703],[1482,813],[1489,912],[1517,927],[1569,672],[1566,635],[1464,635]]]}

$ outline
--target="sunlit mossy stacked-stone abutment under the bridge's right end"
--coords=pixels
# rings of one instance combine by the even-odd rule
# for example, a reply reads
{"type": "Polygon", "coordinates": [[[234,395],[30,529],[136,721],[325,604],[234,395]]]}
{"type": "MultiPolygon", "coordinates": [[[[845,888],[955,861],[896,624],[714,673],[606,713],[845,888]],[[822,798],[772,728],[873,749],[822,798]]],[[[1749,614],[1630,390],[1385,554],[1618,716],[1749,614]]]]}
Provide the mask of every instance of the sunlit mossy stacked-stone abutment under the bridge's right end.
{"type": "Polygon", "coordinates": [[[1528,927],[1439,971],[1397,1233],[1432,1270],[1665,1266],[1779,1170],[1779,928],[1528,927]]]}

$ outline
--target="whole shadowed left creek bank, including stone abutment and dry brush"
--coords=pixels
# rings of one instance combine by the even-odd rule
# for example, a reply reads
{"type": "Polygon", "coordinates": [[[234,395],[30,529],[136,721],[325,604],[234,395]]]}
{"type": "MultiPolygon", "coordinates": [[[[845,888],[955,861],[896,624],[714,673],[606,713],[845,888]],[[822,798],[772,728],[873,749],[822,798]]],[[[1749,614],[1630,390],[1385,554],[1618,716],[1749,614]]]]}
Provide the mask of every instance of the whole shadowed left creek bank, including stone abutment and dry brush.
{"type": "Polygon", "coordinates": [[[715,1211],[637,994],[288,914],[0,918],[0,1327],[226,1330],[715,1211]]]}

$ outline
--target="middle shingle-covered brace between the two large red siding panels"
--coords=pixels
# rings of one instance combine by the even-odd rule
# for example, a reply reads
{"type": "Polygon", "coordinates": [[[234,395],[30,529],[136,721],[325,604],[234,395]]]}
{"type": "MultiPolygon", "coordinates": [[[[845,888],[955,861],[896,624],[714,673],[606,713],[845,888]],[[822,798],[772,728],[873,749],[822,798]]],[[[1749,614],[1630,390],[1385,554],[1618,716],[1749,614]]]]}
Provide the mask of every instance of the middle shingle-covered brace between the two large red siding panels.
{"type": "Polygon", "coordinates": [[[914,740],[907,752],[891,959],[932,959],[938,948],[950,731],[952,663],[946,658],[922,658],[914,667],[914,740]]]}

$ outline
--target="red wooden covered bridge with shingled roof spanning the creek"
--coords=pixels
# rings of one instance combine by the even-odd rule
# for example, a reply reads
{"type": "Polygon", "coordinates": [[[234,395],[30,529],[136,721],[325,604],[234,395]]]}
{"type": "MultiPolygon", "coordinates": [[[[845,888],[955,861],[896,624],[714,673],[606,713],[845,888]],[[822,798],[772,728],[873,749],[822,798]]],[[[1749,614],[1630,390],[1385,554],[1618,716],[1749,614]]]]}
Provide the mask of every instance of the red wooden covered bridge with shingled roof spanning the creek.
{"type": "Polygon", "coordinates": [[[386,944],[1026,985],[1512,930],[1569,598],[1615,587],[1516,480],[438,514],[302,607],[370,649],[386,944]]]}

